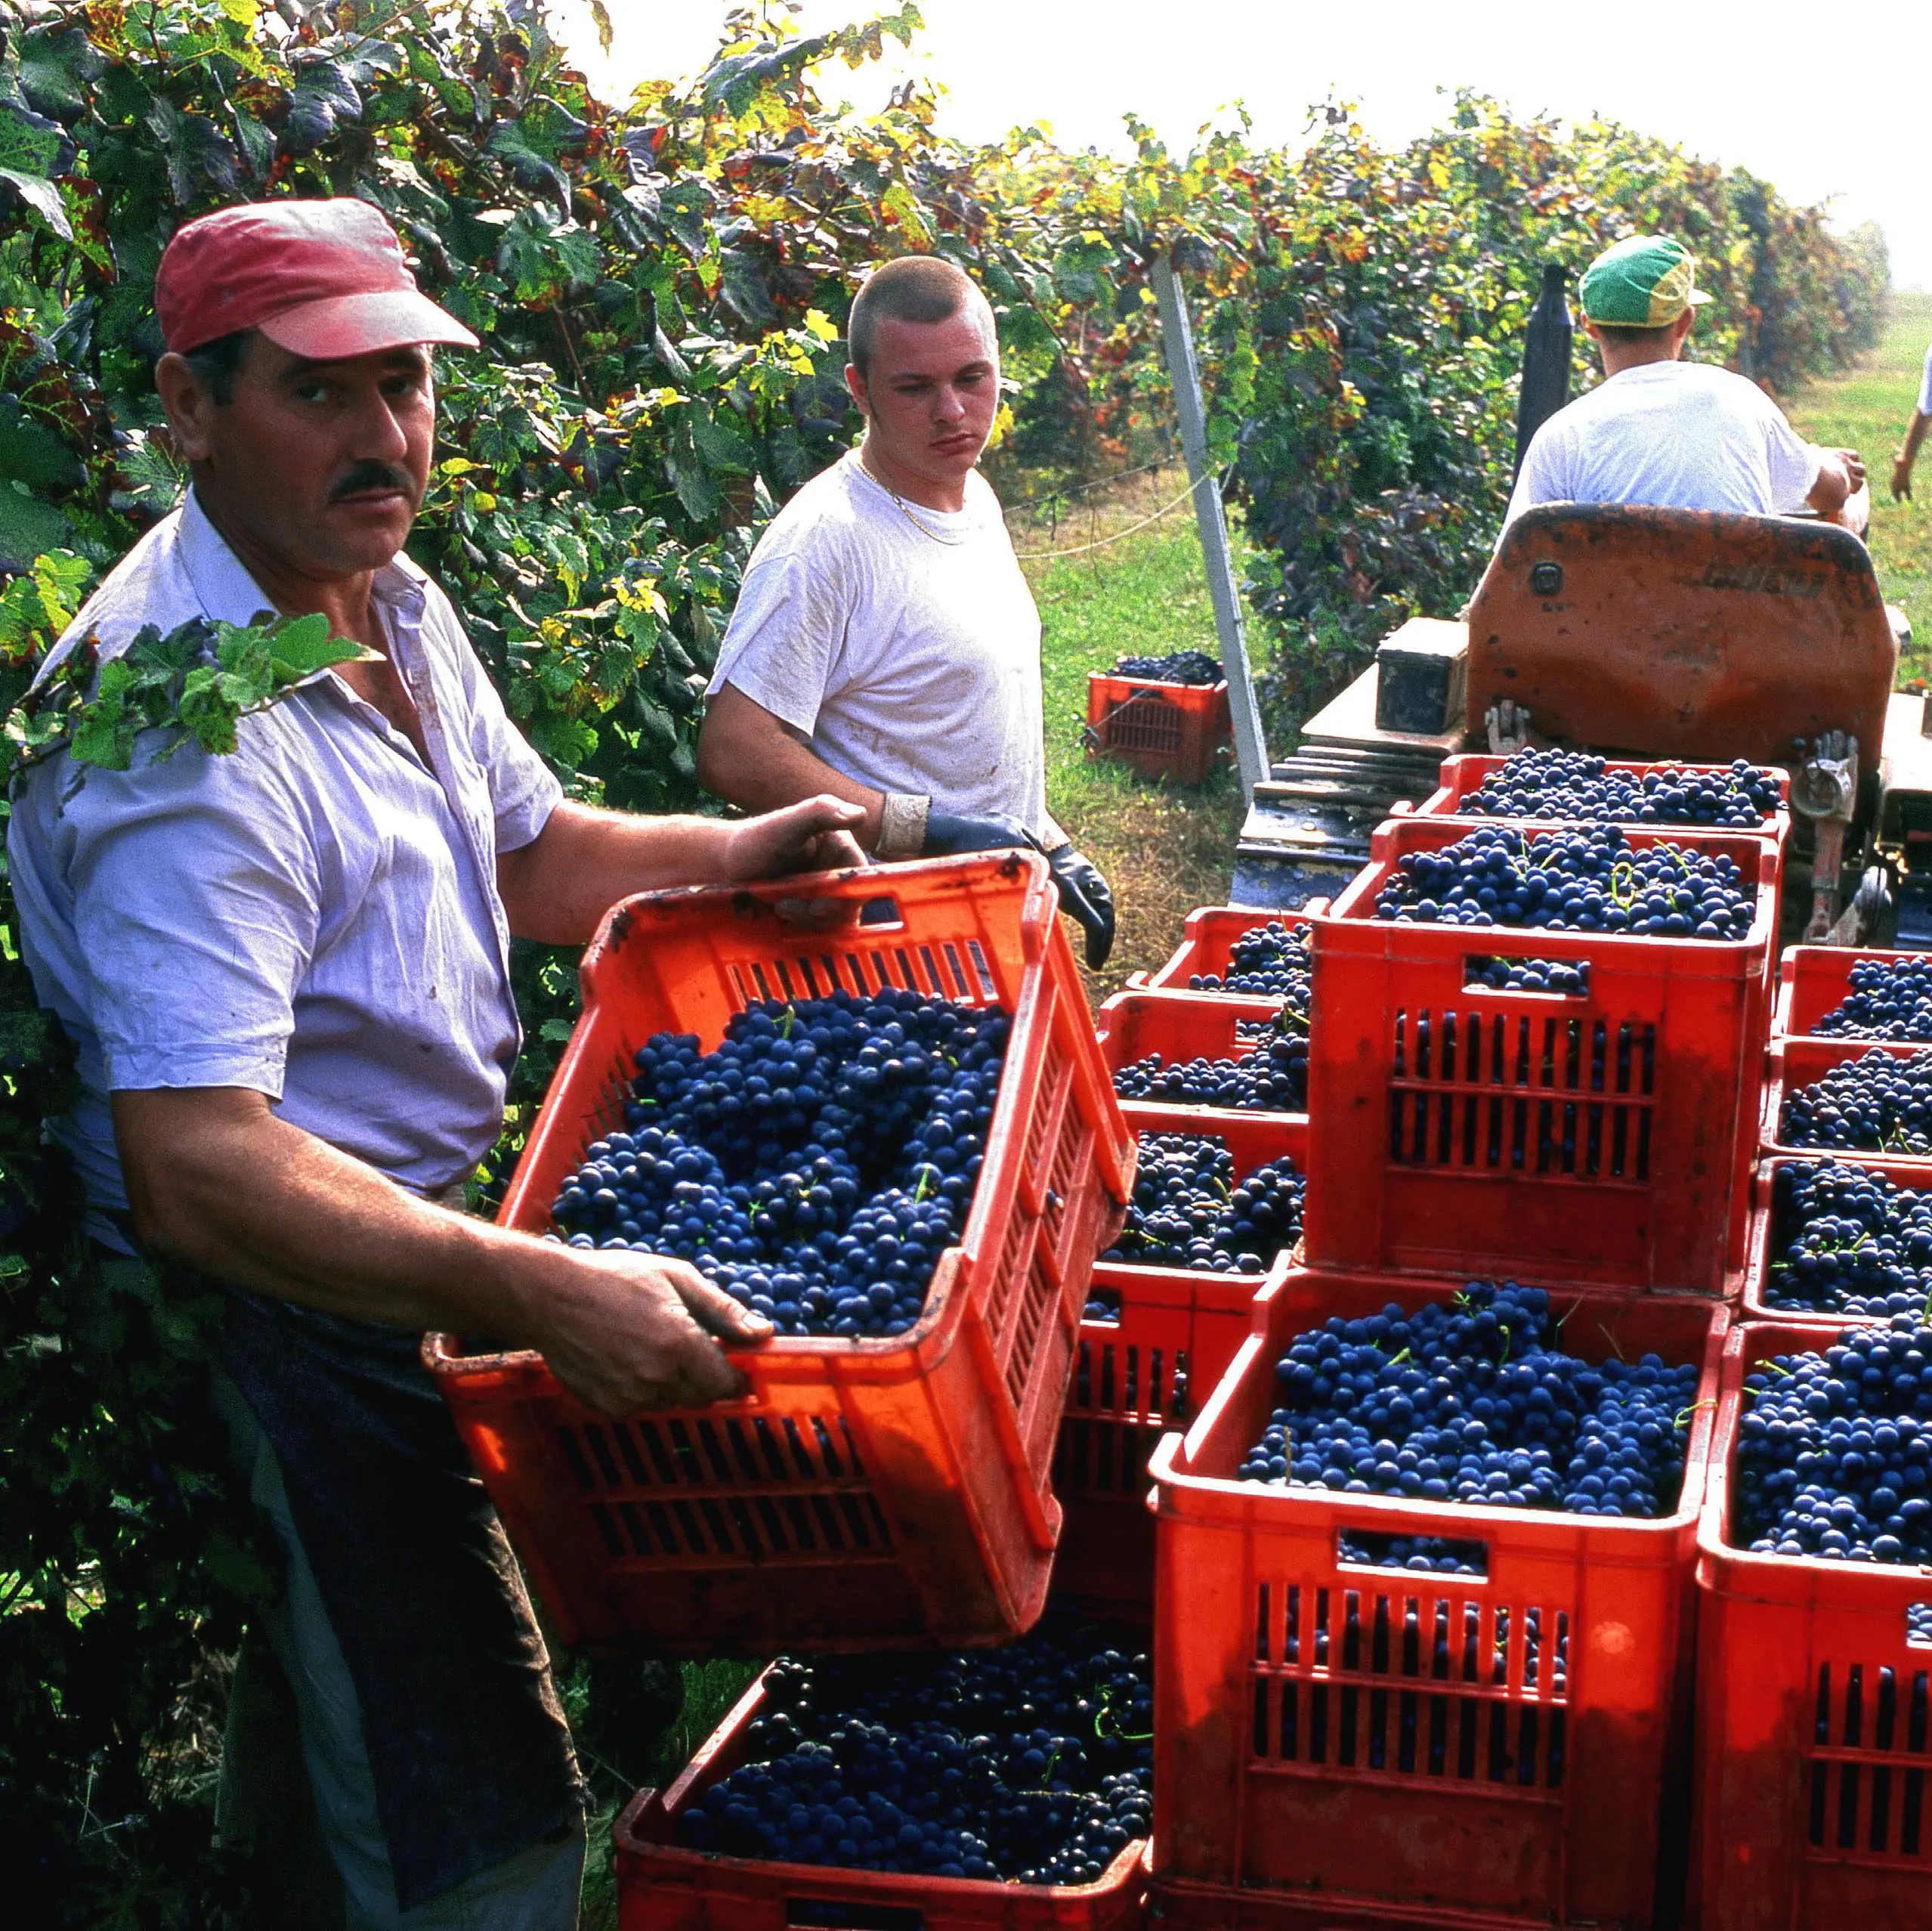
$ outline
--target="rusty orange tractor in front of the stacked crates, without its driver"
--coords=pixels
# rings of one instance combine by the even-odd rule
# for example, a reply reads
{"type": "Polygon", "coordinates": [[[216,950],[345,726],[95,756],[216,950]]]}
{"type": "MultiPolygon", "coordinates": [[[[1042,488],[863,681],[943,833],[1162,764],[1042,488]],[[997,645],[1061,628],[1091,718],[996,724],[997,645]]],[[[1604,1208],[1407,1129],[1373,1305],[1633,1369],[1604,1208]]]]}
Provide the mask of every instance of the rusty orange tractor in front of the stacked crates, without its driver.
{"type": "Polygon", "coordinates": [[[1546,504],[1457,620],[1416,619],[1256,789],[1233,901],[1331,893],[1443,758],[1522,744],[1783,765],[1785,937],[1932,943],[1932,713],[1911,636],[1849,530],[1785,516],[1546,504]]]}

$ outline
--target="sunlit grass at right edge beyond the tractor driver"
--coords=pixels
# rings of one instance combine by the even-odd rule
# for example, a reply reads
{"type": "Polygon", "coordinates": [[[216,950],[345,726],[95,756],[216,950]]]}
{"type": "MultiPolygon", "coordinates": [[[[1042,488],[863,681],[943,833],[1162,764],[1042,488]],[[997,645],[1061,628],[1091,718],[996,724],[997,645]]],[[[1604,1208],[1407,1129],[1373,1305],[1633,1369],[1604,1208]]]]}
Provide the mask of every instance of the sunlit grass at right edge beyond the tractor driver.
{"type": "Polygon", "coordinates": [[[1891,296],[1878,348],[1849,375],[1808,383],[1789,406],[1793,425],[1814,443],[1855,448],[1872,474],[1872,528],[1866,541],[1886,601],[1913,620],[1915,648],[1901,677],[1932,675],[1932,448],[1918,454],[1918,499],[1891,501],[1891,456],[1905,441],[1918,400],[1932,294],[1891,296]]]}

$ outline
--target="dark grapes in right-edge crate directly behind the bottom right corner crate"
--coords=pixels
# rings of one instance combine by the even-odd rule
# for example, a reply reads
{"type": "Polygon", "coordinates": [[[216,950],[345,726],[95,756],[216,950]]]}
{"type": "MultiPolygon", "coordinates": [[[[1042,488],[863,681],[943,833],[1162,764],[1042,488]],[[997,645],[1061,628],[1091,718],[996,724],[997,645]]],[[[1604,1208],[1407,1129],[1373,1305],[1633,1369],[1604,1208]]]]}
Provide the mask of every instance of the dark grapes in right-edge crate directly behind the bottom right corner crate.
{"type": "Polygon", "coordinates": [[[1768,1307],[1922,1318],[1932,1291],[1932,1196],[1832,1160],[1772,1179],[1768,1307]]]}

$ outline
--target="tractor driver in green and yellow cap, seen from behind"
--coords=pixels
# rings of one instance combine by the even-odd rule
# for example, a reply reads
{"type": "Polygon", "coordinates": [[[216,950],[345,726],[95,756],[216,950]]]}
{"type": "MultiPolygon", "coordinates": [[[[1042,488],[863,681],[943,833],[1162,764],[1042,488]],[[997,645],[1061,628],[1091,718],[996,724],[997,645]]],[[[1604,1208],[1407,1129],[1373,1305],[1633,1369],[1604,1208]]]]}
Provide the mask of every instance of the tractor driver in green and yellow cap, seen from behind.
{"type": "Polygon", "coordinates": [[[1816,448],[1756,383],[1683,361],[1698,307],[1696,261],[1640,234],[1584,271],[1584,329],[1604,381],[1536,431],[1505,528],[1536,503],[1654,503],[1683,510],[1837,516],[1864,483],[1849,448],[1816,448]]]}

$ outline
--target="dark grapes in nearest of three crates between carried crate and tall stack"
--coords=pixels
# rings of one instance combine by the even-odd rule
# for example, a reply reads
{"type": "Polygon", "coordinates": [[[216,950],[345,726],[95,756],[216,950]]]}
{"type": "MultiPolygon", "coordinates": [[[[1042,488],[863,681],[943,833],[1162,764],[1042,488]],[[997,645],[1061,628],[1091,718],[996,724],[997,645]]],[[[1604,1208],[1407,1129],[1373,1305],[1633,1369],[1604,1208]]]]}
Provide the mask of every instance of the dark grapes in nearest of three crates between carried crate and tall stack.
{"type": "Polygon", "coordinates": [[[1235,1179],[1217,1138],[1144,1133],[1134,1198],[1103,1260],[1202,1274],[1260,1274],[1302,1237],[1306,1183],[1289,1158],[1235,1179]]]}

